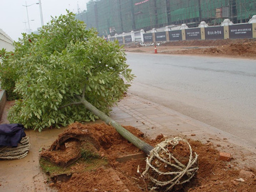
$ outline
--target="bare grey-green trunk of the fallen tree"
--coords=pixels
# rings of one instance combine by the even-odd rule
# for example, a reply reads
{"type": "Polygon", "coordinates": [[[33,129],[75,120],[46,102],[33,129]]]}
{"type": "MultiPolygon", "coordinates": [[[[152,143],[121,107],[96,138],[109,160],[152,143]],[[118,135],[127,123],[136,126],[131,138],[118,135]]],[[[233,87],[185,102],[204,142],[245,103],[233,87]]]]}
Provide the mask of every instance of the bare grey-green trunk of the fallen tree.
{"type": "Polygon", "coordinates": [[[94,107],[91,103],[88,101],[82,99],[81,103],[91,112],[93,112],[95,115],[97,115],[102,121],[104,121],[107,125],[111,125],[116,129],[116,131],[125,139],[133,143],[137,148],[145,152],[146,154],[150,154],[150,151],[153,149],[151,145],[144,142],[143,140],[139,139],[135,135],[133,135],[131,132],[124,129],[122,126],[120,126],[118,123],[116,123],[112,118],[110,118],[108,115],[104,114],[102,111],[98,110],[96,107],[94,107]]]}

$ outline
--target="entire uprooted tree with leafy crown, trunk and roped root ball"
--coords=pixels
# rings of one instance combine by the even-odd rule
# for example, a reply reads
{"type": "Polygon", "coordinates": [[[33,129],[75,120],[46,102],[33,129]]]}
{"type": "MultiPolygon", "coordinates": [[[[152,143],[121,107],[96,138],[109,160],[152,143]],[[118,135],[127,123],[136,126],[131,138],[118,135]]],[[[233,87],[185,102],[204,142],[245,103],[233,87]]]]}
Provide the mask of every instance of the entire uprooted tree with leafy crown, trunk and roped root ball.
{"type": "Polygon", "coordinates": [[[130,86],[126,81],[130,82],[134,76],[118,42],[106,42],[97,37],[95,30],[86,30],[86,25],[75,20],[73,13],[53,18],[39,34],[23,34],[15,42],[14,52],[1,53],[2,81],[12,80],[8,85],[10,92],[13,89],[16,97],[21,98],[9,111],[10,123],[41,131],[99,117],[136,147],[151,154],[147,159],[148,174],[144,175],[152,178],[158,174],[159,177],[152,178],[157,188],[169,190],[195,175],[197,155],[190,147],[187,165],[181,162],[183,157],[179,160],[170,152],[180,139],[168,140],[165,146],[153,149],[105,115],[130,86]],[[184,181],[180,180],[183,176],[184,181]]]}

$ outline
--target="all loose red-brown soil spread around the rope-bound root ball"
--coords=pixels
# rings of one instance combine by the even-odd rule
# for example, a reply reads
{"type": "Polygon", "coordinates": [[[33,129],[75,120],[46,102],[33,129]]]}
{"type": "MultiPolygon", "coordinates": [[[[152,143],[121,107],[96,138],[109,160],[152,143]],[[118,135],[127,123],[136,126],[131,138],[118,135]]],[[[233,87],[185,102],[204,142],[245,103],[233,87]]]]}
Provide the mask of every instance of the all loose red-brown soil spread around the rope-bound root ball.
{"type": "MultiPolygon", "coordinates": [[[[165,139],[163,135],[159,135],[156,139],[151,140],[134,127],[124,128],[152,146],[156,146],[157,143],[165,139]]],[[[255,191],[256,170],[245,167],[241,170],[234,159],[231,162],[219,160],[219,151],[214,149],[210,142],[201,143],[194,140],[188,140],[188,142],[193,151],[199,155],[199,170],[190,182],[173,191],[255,191]]],[[[52,186],[57,187],[58,191],[148,191],[147,184],[137,173],[138,165],[141,173],[145,170],[146,163],[143,156],[117,161],[123,156],[127,157],[138,153],[141,152],[121,137],[111,126],[75,123],[60,134],[48,150],[41,153],[40,159],[51,161],[52,164],[48,166],[48,169],[44,169],[41,164],[44,171],[48,173],[52,166],[60,166],[62,171],[69,169],[68,179],[56,179],[55,177],[54,183],[51,183],[52,186]],[[78,152],[88,141],[94,143],[93,150],[96,150],[93,152],[98,154],[96,160],[94,158],[84,160],[82,152],[78,152]],[[74,150],[74,147],[77,147],[77,150],[74,150]],[[66,151],[69,148],[78,152],[79,158],[77,158],[77,153],[66,151]],[[59,155],[60,153],[66,154],[63,159],[62,155],[59,155]],[[69,154],[70,158],[68,158],[69,154]],[[77,160],[66,166],[64,162],[68,162],[67,159],[74,159],[74,157],[77,160]],[[98,166],[88,169],[90,163],[90,166],[93,163],[95,165],[97,161],[105,163],[98,163],[98,166]]]]}

